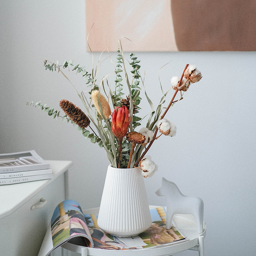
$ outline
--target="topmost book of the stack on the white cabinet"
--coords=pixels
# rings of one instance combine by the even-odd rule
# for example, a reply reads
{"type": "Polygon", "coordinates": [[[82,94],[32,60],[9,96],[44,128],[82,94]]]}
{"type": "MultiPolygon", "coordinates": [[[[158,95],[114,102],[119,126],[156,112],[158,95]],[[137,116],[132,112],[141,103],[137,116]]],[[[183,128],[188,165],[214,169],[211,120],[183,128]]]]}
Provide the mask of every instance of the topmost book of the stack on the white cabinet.
{"type": "Polygon", "coordinates": [[[0,173],[41,169],[50,169],[50,164],[45,162],[35,150],[0,154],[0,173]]]}

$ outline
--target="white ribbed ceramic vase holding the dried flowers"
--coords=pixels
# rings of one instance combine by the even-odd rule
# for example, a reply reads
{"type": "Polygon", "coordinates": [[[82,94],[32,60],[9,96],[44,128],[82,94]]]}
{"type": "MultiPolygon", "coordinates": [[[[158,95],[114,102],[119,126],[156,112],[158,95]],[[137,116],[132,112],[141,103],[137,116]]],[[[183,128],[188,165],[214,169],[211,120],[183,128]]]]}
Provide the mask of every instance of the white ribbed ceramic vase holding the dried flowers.
{"type": "Polygon", "coordinates": [[[146,188],[138,168],[108,166],[98,226],[113,236],[136,236],[151,225],[146,188]]]}

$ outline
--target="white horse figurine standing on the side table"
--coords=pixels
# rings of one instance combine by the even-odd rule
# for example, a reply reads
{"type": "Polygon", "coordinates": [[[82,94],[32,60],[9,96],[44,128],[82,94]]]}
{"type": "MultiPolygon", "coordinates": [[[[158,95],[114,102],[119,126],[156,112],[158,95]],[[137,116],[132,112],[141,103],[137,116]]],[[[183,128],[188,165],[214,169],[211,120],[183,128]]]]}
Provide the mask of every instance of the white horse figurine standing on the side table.
{"type": "Polygon", "coordinates": [[[162,186],[156,190],[157,196],[165,196],[166,199],[166,229],[172,227],[175,213],[192,214],[197,223],[198,233],[203,233],[204,202],[199,197],[184,196],[180,189],[172,181],[162,179],[162,186]]]}

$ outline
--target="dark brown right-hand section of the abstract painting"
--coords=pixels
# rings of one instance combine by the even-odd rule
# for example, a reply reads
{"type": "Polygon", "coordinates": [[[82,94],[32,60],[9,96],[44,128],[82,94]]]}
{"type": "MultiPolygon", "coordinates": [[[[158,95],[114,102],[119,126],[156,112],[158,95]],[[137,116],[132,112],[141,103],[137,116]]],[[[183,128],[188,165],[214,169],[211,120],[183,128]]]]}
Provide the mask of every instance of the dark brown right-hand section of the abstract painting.
{"type": "Polygon", "coordinates": [[[179,51],[256,51],[255,0],[171,1],[179,51]]]}

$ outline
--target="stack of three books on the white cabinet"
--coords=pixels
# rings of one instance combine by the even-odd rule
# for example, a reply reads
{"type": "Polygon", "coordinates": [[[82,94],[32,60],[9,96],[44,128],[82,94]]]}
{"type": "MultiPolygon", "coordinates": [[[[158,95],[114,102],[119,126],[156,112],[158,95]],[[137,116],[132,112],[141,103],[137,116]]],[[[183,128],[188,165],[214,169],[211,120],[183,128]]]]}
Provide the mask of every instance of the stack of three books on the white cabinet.
{"type": "Polygon", "coordinates": [[[0,185],[46,180],[52,177],[50,164],[35,150],[0,154],[0,185]]]}

